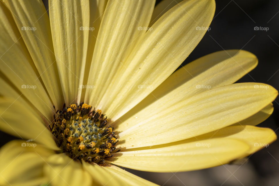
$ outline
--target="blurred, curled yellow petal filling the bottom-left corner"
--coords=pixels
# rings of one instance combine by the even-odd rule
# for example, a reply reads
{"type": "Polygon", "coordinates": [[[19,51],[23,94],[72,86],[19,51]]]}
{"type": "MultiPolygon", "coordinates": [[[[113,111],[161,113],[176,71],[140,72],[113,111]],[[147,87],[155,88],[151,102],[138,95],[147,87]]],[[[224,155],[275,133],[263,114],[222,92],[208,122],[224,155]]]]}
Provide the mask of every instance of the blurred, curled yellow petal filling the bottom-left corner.
{"type": "Polygon", "coordinates": [[[54,154],[40,144],[14,140],[0,149],[0,185],[40,185],[47,181],[43,175],[44,159],[54,154]]]}

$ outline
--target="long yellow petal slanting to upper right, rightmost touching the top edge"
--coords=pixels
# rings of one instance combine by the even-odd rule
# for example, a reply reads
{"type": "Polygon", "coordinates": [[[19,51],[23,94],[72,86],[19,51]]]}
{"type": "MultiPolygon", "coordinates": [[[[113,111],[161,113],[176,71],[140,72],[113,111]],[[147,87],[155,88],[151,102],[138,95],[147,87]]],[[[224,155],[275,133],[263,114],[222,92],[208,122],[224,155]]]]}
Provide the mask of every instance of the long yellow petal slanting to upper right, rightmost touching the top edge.
{"type": "Polygon", "coordinates": [[[213,0],[190,0],[166,12],[122,63],[96,108],[115,121],[142,101],[196,47],[206,32],[196,27],[208,27],[214,10],[213,0]]]}

